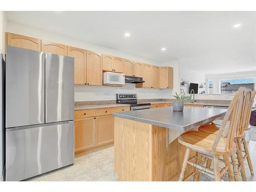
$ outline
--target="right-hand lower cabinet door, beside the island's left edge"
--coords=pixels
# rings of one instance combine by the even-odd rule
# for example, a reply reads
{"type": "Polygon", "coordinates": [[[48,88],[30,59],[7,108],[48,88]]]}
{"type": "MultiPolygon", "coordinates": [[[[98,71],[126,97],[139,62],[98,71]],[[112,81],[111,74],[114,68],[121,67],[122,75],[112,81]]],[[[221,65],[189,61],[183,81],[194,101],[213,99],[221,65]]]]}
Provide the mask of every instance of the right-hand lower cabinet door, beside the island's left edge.
{"type": "Polygon", "coordinates": [[[96,117],[96,145],[114,141],[114,118],[112,115],[96,117]]]}

